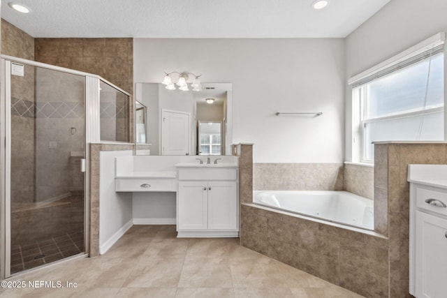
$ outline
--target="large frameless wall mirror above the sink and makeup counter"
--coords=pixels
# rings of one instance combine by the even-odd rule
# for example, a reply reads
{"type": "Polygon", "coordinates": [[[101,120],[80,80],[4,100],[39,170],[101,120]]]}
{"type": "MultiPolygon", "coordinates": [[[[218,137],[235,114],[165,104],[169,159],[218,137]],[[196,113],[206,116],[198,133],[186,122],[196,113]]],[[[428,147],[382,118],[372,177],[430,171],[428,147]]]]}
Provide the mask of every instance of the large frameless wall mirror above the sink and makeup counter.
{"type": "Polygon", "coordinates": [[[150,155],[231,154],[232,84],[202,83],[202,88],[171,91],[159,83],[135,84],[136,139],[150,144],[150,155]]]}

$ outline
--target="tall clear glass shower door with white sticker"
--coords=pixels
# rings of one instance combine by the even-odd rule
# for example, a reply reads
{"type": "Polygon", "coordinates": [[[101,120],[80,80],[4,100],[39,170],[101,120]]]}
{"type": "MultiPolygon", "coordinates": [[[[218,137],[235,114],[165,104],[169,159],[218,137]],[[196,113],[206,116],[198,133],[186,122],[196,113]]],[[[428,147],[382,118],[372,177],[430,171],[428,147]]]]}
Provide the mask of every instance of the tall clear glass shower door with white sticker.
{"type": "Polygon", "coordinates": [[[8,85],[6,200],[15,274],[85,251],[85,77],[12,62],[8,85]]]}

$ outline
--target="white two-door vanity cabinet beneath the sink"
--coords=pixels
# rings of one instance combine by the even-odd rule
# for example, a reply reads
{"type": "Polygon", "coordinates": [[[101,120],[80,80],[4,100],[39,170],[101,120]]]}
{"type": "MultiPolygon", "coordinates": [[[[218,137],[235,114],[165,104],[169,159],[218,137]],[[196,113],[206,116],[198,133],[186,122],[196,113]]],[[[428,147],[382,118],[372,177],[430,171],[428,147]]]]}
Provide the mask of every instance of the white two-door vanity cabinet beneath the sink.
{"type": "Polygon", "coordinates": [[[238,237],[236,168],[179,169],[177,232],[177,237],[238,237]]]}

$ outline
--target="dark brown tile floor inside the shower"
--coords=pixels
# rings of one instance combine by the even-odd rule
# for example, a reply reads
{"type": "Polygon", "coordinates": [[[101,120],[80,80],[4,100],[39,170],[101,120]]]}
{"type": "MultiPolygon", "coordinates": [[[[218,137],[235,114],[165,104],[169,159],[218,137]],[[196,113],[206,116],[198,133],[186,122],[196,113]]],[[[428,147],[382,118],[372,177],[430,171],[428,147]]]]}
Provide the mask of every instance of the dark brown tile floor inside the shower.
{"type": "Polygon", "coordinates": [[[84,251],[84,233],[57,235],[11,248],[11,274],[61,260],[84,251]]]}

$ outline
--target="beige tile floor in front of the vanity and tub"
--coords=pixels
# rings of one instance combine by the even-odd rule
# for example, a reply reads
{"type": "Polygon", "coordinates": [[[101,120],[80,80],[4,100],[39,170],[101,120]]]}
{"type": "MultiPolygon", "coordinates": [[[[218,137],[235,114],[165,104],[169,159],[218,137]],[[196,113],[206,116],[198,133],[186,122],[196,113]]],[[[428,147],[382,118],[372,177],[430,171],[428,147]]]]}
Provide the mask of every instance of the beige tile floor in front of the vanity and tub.
{"type": "Polygon", "coordinates": [[[77,288],[3,288],[0,297],[361,297],[244,248],[239,239],[175,235],[175,225],[134,225],[104,255],[13,278],[77,288]]]}

